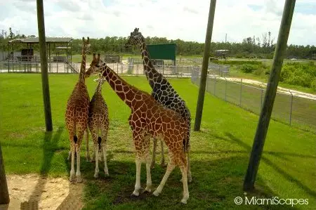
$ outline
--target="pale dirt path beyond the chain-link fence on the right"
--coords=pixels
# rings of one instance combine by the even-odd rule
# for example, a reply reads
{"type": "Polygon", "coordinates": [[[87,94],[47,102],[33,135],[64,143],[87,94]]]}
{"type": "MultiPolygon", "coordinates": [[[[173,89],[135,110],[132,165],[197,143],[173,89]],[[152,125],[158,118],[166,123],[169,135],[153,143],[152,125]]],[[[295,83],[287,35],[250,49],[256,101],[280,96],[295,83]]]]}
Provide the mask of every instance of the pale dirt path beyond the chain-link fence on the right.
{"type": "MultiPolygon", "coordinates": [[[[217,78],[224,79],[223,77],[216,77],[216,79],[217,78]]],[[[229,80],[229,81],[240,82],[240,78],[227,77],[226,79],[229,80]]],[[[256,81],[256,80],[253,80],[253,79],[242,79],[242,82],[246,83],[246,84],[255,84],[255,85],[258,85],[258,86],[262,86],[262,87],[266,87],[267,86],[266,83],[261,82],[261,81],[256,81]]],[[[316,95],[314,95],[314,94],[304,93],[304,92],[301,92],[301,91],[294,91],[294,90],[291,90],[291,89],[288,89],[288,88],[282,88],[280,86],[277,87],[277,91],[280,92],[280,93],[286,93],[286,94],[289,94],[289,95],[291,95],[291,93],[292,93],[293,96],[298,96],[298,97],[301,97],[301,98],[309,98],[309,99],[312,99],[312,100],[316,100],[316,95]],[[291,91],[291,93],[289,91],[291,91]]]]}

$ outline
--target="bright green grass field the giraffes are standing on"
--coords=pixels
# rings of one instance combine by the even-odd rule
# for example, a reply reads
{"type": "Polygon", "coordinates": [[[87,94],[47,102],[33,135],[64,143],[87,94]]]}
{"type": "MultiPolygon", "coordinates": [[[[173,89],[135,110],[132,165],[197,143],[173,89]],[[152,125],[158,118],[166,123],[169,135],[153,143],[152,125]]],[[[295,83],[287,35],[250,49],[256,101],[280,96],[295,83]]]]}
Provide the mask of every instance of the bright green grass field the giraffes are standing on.
{"type": "MultiPolygon", "coordinates": [[[[51,108],[54,131],[44,128],[40,74],[0,74],[0,133],[6,173],[39,173],[68,178],[70,144],[65,130],[64,114],[67,98],[77,81],[77,75],[50,74],[51,108]]],[[[145,77],[124,77],[130,84],[150,91],[145,77]]],[[[192,112],[194,124],[197,86],[189,79],[169,79],[192,112]]],[[[96,88],[87,80],[92,96],[96,88]]],[[[159,197],[140,195],[131,199],[136,180],[135,155],[131,129],[127,122],[130,110],[108,84],[103,96],[110,113],[108,167],[110,177],[93,178],[94,164],[86,163],[85,148],[81,152],[81,174],[85,179],[85,209],[289,209],[287,205],[240,205],[237,196],[244,197],[242,183],[258,116],[225,103],[206,93],[202,131],[191,137],[192,183],[190,199],[180,204],[182,183],[180,170],[171,173],[159,197]]],[[[257,198],[308,199],[308,205],[294,209],[315,209],[315,147],[316,135],[271,121],[258,171],[256,191],[248,195],[257,198]]],[[[160,157],[160,155],[157,155],[160,157]]],[[[165,169],[152,170],[153,188],[159,185],[165,169]]],[[[142,166],[142,186],[145,188],[145,166],[142,166]]]]}

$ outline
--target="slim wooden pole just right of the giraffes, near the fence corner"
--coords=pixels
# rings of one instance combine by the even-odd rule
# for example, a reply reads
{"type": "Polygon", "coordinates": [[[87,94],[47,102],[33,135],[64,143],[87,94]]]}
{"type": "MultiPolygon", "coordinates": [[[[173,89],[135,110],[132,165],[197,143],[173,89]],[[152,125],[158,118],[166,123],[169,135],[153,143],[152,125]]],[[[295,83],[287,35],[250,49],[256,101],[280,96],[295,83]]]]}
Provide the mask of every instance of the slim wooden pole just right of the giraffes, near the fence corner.
{"type": "Polygon", "coordinates": [[[203,55],[203,63],[202,63],[201,80],[199,83],[199,97],[197,98],[197,112],[195,114],[194,131],[199,131],[200,126],[201,126],[205,86],[206,86],[206,79],[207,79],[206,78],[207,67],[209,66],[209,52],[211,48],[211,38],[212,38],[213,22],[214,22],[214,15],[215,15],[215,6],[216,6],[216,0],[211,0],[211,4],[209,6],[209,20],[207,22],[207,28],[206,28],[204,55],[203,55]]]}

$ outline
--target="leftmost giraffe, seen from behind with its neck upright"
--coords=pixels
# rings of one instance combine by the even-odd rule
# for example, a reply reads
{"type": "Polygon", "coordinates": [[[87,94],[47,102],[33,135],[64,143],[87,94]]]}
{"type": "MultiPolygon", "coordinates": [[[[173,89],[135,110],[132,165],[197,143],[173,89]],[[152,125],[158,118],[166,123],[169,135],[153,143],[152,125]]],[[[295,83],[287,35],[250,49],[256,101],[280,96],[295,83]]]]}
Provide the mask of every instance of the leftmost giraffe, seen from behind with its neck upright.
{"type": "Polygon", "coordinates": [[[85,72],[86,72],[86,53],[90,49],[89,37],[84,40],[82,37],[82,58],[81,67],[79,72],[79,81],[74,86],[70,97],[67,100],[67,108],[65,113],[66,128],[70,138],[70,154],[71,155],[71,169],[70,169],[70,181],[74,181],[74,154],[77,153],[77,182],[82,182],[80,172],[80,147],[81,141],[86,133],[87,143],[87,159],[90,159],[88,152],[88,107],[89,107],[89,95],[85,84],[85,72]]]}

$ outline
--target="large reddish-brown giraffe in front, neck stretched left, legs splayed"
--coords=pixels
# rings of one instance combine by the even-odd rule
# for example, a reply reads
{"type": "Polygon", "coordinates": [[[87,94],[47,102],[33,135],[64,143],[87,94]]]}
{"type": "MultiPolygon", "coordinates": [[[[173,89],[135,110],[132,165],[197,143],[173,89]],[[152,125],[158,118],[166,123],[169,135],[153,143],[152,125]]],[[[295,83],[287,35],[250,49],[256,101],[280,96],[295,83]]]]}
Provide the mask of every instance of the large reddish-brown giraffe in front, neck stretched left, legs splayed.
{"type": "Polygon", "coordinates": [[[169,163],[166,173],[153,194],[158,196],[162,192],[170,173],[176,166],[179,166],[183,181],[183,199],[181,199],[181,202],[186,204],[189,198],[189,190],[187,188],[187,163],[185,158],[187,146],[187,122],[185,122],[185,119],[178,112],[160,105],[150,94],[138,90],[138,88],[121,79],[100,60],[100,54],[98,59],[93,59],[91,65],[91,68],[94,69],[93,71],[99,72],[107,80],[114,92],[117,93],[117,96],[131,109],[129,125],[133,132],[133,141],[136,148],[136,185],[132,195],[139,195],[140,166],[144,161],[147,175],[145,191],[151,192],[149,137],[152,136],[163,139],[169,148],[169,163]]]}

